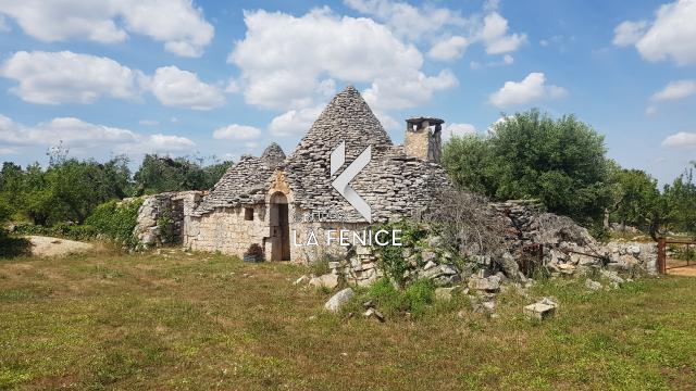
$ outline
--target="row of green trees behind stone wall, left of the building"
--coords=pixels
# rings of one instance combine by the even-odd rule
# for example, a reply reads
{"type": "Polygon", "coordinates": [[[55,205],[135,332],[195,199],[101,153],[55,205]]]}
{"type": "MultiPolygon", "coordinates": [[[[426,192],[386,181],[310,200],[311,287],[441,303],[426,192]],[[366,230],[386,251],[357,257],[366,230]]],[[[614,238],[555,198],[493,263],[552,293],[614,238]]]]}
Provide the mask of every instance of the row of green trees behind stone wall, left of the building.
{"type": "Polygon", "coordinates": [[[164,191],[210,189],[232,162],[145,155],[135,173],[125,156],[104,163],[70,157],[62,147],[51,149],[49,164],[22,167],[12,162],[0,171],[0,216],[36,225],[85,223],[110,200],[164,191]]]}

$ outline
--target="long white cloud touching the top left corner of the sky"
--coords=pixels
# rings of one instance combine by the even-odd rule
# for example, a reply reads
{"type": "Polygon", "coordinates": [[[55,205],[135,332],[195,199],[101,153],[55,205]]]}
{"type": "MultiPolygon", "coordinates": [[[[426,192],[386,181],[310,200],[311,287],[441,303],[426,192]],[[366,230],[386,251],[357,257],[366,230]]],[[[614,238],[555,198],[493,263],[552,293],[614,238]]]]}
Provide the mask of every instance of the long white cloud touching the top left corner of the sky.
{"type": "Polygon", "coordinates": [[[0,0],[0,13],[47,42],[77,38],[113,43],[134,33],[183,56],[200,56],[214,34],[191,0],[0,0]]]}

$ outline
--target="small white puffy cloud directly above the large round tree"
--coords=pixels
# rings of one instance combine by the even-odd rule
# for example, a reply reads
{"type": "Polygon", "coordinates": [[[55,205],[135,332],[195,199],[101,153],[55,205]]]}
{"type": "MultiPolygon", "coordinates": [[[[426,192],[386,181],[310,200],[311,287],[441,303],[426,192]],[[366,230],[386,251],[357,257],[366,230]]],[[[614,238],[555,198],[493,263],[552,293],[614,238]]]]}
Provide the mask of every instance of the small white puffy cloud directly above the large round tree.
{"type": "Polygon", "coordinates": [[[562,87],[546,85],[543,73],[531,73],[522,81],[506,81],[490,94],[490,103],[498,108],[527,104],[542,99],[562,98],[568,92],[562,87]]]}

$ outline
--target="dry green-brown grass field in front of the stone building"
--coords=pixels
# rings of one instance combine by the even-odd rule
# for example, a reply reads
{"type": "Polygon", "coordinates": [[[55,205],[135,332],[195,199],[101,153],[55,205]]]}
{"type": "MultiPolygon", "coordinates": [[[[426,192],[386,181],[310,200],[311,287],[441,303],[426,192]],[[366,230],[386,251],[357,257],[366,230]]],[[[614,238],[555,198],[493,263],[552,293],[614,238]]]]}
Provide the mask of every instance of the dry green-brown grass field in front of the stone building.
{"type": "Polygon", "coordinates": [[[696,387],[695,278],[546,282],[502,294],[497,319],[460,300],[380,324],[325,314],[303,273],[175,250],[0,261],[0,389],[696,387]],[[526,320],[547,294],[557,317],[526,320]]]}

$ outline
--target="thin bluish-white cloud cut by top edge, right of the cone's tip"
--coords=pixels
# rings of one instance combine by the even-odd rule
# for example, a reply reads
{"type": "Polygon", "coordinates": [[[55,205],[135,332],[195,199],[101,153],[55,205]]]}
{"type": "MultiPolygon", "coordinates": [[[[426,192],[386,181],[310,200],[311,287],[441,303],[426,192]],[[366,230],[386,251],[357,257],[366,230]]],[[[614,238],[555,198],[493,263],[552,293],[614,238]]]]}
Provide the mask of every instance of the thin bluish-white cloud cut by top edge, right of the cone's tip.
{"type": "Polygon", "coordinates": [[[380,21],[399,37],[419,39],[447,26],[463,27],[467,21],[458,11],[430,5],[417,8],[391,0],[344,0],[349,8],[380,21]]]}

